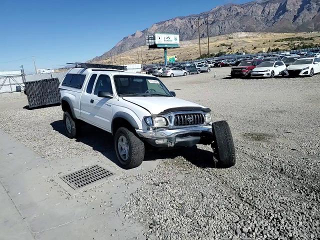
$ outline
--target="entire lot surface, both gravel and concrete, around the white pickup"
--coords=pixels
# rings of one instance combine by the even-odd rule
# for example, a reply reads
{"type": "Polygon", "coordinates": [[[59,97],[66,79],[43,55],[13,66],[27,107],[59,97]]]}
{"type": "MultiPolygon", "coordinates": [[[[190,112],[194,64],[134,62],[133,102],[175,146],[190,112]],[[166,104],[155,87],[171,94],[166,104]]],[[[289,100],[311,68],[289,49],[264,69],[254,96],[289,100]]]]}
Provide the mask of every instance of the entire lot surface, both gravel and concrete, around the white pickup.
{"type": "Polygon", "coordinates": [[[1,199],[14,205],[12,221],[0,223],[6,239],[22,239],[17,222],[25,239],[320,238],[320,75],[229,73],[160,78],[229,123],[237,160],[229,169],[215,168],[211,148],[197,145],[148,150],[141,166],[123,170],[110,134],[84,126],[69,139],[60,106],[30,110],[25,96],[1,99],[1,144],[14,145],[0,146],[1,199]],[[114,177],[69,194],[58,176],[91,163],[114,177]]]}

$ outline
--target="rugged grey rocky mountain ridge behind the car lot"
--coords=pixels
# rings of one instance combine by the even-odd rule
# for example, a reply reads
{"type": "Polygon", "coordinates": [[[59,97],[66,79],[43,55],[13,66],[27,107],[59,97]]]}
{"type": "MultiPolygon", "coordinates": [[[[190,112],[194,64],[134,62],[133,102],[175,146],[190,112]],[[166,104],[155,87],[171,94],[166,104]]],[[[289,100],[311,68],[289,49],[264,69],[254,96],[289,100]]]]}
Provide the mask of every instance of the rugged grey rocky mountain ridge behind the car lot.
{"type": "MultiPolygon", "coordinates": [[[[152,24],[123,37],[109,51],[90,61],[109,57],[145,45],[145,36],[155,32],[178,33],[180,40],[198,37],[197,18],[209,19],[209,36],[239,31],[294,32],[320,30],[320,0],[255,0],[243,4],[217,6],[199,14],[179,16],[152,24]]],[[[200,29],[206,22],[200,21],[200,29]]],[[[203,31],[201,37],[207,35],[203,31]]]]}

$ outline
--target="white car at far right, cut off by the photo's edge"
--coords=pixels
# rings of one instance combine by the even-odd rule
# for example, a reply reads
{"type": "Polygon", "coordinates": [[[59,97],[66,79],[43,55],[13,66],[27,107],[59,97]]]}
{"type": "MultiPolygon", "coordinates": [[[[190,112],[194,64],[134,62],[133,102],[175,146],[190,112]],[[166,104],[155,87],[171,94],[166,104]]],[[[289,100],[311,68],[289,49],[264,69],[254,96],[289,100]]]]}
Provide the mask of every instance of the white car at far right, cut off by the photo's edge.
{"type": "Polygon", "coordinates": [[[313,76],[320,72],[320,58],[305,57],[295,60],[287,67],[289,75],[313,76]]]}

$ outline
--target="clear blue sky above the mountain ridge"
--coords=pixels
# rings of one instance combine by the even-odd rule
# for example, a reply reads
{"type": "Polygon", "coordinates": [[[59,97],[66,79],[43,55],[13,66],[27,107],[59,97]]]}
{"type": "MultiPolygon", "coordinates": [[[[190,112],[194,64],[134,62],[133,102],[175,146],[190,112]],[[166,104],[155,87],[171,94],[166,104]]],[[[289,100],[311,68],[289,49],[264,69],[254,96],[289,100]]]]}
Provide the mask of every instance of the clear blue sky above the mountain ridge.
{"type": "Polygon", "coordinates": [[[0,70],[31,73],[30,56],[37,68],[85,61],[152,23],[246,1],[1,0],[0,70]]]}

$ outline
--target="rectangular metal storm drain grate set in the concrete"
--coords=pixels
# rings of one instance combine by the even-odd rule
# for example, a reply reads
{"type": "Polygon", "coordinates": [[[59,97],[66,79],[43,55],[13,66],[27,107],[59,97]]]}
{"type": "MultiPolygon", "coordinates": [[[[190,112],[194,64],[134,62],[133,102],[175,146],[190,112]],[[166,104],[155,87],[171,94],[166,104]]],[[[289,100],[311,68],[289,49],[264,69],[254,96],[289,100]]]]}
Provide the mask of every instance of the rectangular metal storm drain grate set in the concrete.
{"type": "Polygon", "coordinates": [[[77,189],[112,175],[114,175],[113,172],[99,165],[92,165],[60,176],[60,178],[73,189],[77,189]]]}

